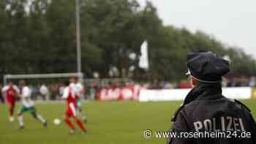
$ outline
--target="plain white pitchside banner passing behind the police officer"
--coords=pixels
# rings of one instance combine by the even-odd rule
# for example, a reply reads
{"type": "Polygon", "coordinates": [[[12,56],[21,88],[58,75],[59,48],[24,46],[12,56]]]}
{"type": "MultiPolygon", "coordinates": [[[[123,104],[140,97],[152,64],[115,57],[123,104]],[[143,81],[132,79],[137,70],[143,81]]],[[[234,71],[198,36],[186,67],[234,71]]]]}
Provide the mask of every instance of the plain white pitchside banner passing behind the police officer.
{"type": "MultiPolygon", "coordinates": [[[[148,90],[141,89],[139,101],[176,101],[184,100],[191,89],[162,89],[162,90],[148,90]]],[[[222,94],[229,99],[251,99],[252,88],[222,88],[222,94]]]]}

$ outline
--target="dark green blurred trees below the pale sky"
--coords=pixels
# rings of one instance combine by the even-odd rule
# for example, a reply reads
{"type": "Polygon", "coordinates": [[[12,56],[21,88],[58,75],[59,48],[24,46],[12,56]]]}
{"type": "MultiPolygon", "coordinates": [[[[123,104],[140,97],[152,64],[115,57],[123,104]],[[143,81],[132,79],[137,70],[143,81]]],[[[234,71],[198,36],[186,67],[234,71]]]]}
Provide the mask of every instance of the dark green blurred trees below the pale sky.
{"type": "MultiPolygon", "coordinates": [[[[151,2],[80,0],[82,71],[109,77],[111,67],[135,80],[184,79],[187,53],[211,50],[229,56],[230,75],[255,75],[255,60],[198,31],[163,26],[151,2]],[[148,41],[148,71],[138,67],[140,45],[148,41]],[[135,53],[135,60],[129,58],[135,53]]],[[[0,1],[0,75],[76,72],[75,1],[0,1]]]]}

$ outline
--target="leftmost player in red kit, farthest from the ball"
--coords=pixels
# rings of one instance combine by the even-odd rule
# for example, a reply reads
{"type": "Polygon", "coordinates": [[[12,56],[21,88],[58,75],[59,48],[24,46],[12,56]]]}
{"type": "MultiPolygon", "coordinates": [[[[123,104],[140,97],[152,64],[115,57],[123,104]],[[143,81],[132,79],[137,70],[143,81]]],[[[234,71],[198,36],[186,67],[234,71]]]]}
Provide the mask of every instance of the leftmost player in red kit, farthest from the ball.
{"type": "Polygon", "coordinates": [[[17,86],[13,85],[11,81],[9,81],[8,85],[2,88],[2,92],[5,95],[5,99],[9,107],[9,120],[10,122],[13,122],[15,120],[13,117],[15,102],[20,90],[17,86]]]}

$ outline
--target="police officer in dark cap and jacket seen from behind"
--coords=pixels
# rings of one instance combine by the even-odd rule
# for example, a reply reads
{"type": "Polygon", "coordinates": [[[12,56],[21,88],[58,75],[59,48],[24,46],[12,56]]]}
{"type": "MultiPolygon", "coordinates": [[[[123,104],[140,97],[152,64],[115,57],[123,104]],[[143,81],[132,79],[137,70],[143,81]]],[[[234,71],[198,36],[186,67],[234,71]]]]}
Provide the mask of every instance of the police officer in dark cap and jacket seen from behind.
{"type": "Polygon", "coordinates": [[[167,143],[256,143],[256,125],[249,108],[222,96],[222,76],[230,71],[229,62],[211,52],[191,53],[187,56],[187,67],[195,87],[172,118],[170,132],[176,132],[179,137],[170,136],[167,143]],[[181,132],[191,132],[193,136],[181,132]],[[225,135],[198,135],[199,132],[225,132],[225,135]],[[242,132],[248,135],[244,137],[242,132]]]}

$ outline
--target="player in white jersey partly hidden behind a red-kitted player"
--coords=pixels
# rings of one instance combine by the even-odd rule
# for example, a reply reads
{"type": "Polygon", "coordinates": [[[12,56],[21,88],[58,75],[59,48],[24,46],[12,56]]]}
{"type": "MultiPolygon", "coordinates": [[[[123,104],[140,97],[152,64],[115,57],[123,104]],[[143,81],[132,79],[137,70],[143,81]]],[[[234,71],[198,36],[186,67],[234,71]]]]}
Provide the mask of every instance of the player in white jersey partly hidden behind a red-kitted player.
{"type": "Polygon", "coordinates": [[[86,118],[86,114],[83,112],[82,101],[81,101],[81,96],[83,96],[83,85],[81,83],[78,83],[78,79],[76,77],[71,77],[69,79],[69,82],[70,82],[69,84],[70,88],[72,88],[72,91],[74,91],[75,95],[78,96],[78,99],[76,102],[76,105],[78,106],[77,108],[78,113],[80,113],[80,115],[82,116],[82,120],[86,122],[87,118],[86,118]]]}

